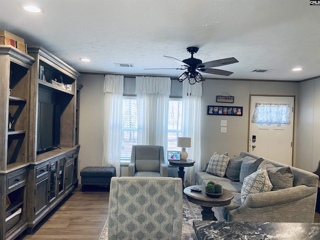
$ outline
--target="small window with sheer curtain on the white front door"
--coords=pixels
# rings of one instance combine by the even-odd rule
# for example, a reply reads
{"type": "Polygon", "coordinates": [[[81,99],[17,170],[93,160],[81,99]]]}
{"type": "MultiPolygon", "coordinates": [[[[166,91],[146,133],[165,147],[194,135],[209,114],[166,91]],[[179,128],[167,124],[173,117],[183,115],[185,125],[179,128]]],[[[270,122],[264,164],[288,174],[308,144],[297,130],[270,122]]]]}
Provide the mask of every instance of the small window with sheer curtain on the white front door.
{"type": "Polygon", "coordinates": [[[290,124],[289,104],[255,103],[252,123],[290,124]]]}

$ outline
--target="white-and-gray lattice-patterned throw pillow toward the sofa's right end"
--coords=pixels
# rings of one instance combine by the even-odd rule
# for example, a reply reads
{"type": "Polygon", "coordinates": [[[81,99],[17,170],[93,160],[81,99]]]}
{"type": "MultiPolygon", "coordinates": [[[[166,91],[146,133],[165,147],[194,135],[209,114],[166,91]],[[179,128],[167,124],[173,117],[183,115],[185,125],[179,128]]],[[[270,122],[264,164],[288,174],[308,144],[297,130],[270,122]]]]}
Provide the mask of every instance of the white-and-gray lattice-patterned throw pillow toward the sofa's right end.
{"type": "Polygon", "coordinates": [[[272,187],[272,183],[265,167],[251,173],[244,178],[242,183],[241,204],[243,204],[248,194],[270,191],[272,187]]]}

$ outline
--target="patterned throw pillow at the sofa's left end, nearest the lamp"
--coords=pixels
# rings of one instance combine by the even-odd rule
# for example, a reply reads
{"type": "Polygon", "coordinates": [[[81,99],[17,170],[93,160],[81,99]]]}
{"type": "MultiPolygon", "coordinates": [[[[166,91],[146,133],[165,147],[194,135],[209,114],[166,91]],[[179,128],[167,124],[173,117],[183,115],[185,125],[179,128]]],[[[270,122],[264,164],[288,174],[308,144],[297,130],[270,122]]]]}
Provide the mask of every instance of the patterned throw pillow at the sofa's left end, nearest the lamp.
{"type": "Polygon", "coordinates": [[[209,164],[205,172],[223,177],[225,174],[225,169],[229,162],[229,153],[225,152],[219,155],[216,151],[210,158],[209,164]]]}

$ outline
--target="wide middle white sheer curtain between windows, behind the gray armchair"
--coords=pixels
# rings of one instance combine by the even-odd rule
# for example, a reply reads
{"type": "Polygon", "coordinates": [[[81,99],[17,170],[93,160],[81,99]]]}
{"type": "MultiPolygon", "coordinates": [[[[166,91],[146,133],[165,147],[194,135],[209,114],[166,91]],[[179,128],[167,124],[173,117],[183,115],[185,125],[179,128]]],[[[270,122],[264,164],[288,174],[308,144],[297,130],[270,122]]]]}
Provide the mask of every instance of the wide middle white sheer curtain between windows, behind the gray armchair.
{"type": "Polygon", "coordinates": [[[137,76],[138,144],[162,145],[167,149],[169,77],[137,76]]]}

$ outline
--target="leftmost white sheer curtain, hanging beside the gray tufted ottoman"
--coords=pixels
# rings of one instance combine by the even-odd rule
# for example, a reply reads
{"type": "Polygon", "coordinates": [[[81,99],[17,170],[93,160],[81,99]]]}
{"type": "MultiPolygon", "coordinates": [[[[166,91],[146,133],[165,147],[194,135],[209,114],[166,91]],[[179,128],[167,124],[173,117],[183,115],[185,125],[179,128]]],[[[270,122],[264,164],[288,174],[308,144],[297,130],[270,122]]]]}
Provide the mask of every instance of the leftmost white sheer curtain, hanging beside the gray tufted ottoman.
{"type": "Polygon", "coordinates": [[[102,166],[114,166],[116,175],[120,176],[123,76],[106,74],[103,92],[105,95],[102,166]]]}

